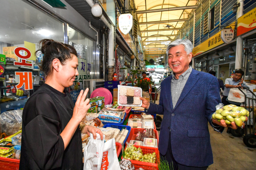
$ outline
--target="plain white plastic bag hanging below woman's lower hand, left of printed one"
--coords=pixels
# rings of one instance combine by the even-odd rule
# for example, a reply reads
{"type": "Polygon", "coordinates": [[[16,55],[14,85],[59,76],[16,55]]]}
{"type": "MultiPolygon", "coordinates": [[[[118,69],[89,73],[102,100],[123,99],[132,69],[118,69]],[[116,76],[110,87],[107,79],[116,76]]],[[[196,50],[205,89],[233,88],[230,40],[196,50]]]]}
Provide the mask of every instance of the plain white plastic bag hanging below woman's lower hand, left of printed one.
{"type": "Polygon", "coordinates": [[[84,149],[84,170],[100,170],[104,140],[105,135],[101,140],[100,135],[97,133],[97,138],[93,139],[93,134],[90,133],[89,142],[84,149]]]}

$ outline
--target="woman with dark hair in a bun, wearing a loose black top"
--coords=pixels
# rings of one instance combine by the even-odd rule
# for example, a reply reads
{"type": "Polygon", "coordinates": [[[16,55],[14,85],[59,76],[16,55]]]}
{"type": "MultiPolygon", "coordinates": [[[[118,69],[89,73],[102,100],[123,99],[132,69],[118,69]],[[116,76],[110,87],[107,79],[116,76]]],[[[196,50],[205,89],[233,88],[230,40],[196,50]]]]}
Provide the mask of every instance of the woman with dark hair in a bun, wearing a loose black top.
{"type": "MultiPolygon", "coordinates": [[[[79,123],[90,108],[85,100],[88,88],[80,92],[76,104],[65,87],[72,86],[78,66],[76,50],[67,44],[44,39],[39,42],[45,83],[24,107],[20,170],[83,169],[83,152],[79,123]]],[[[102,132],[85,126],[94,139],[102,132]]]]}

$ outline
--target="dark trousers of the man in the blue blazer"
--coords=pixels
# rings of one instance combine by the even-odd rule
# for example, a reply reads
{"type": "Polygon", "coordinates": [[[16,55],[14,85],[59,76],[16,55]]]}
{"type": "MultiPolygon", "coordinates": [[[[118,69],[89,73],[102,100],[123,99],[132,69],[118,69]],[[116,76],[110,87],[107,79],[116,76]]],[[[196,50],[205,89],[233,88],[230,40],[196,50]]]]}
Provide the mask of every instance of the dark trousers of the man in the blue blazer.
{"type": "Polygon", "coordinates": [[[171,167],[170,169],[172,169],[172,167],[173,167],[173,170],[178,170],[178,169],[179,170],[206,170],[208,168],[208,167],[189,167],[189,166],[184,166],[180,163],[177,163],[172,155],[170,136],[171,135],[169,135],[170,142],[168,143],[168,149],[167,149],[166,155],[160,154],[161,159],[168,161],[169,166],[171,167]]]}

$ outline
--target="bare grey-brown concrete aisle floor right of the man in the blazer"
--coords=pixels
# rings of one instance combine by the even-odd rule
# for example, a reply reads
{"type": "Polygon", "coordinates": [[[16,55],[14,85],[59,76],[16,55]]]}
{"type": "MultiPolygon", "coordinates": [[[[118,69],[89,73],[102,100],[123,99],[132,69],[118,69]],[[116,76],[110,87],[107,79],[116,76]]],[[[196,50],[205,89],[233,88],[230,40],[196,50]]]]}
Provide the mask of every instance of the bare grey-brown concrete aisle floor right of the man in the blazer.
{"type": "MultiPolygon", "coordinates": [[[[158,94],[158,100],[159,96],[158,94]]],[[[156,101],[157,104],[159,103],[158,100],[156,101]]],[[[214,131],[209,125],[209,132],[211,135],[213,164],[208,167],[208,170],[256,169],[256,148],[246,147],[243,138],[227,134],[226,129],[221,134],[214,131]]]]}

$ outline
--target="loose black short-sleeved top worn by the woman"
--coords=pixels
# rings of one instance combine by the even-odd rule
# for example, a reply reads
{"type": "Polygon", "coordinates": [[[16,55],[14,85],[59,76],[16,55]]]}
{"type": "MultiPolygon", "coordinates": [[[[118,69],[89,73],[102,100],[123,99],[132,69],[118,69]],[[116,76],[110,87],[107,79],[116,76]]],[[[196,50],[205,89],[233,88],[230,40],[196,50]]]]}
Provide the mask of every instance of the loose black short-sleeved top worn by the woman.
{"type": "Polygon", "coordinates": [[[74,103],[71,96],[48,84],[42,87],[50,89],[54,94],[49,94],[57,99],[53,100],[41,90],[40,93],[36,91],[26,102],[22,115],[20,170],[82,169],[80,129],[77,127],[65,150],[60,135],[72,117],[74,103]]]}

